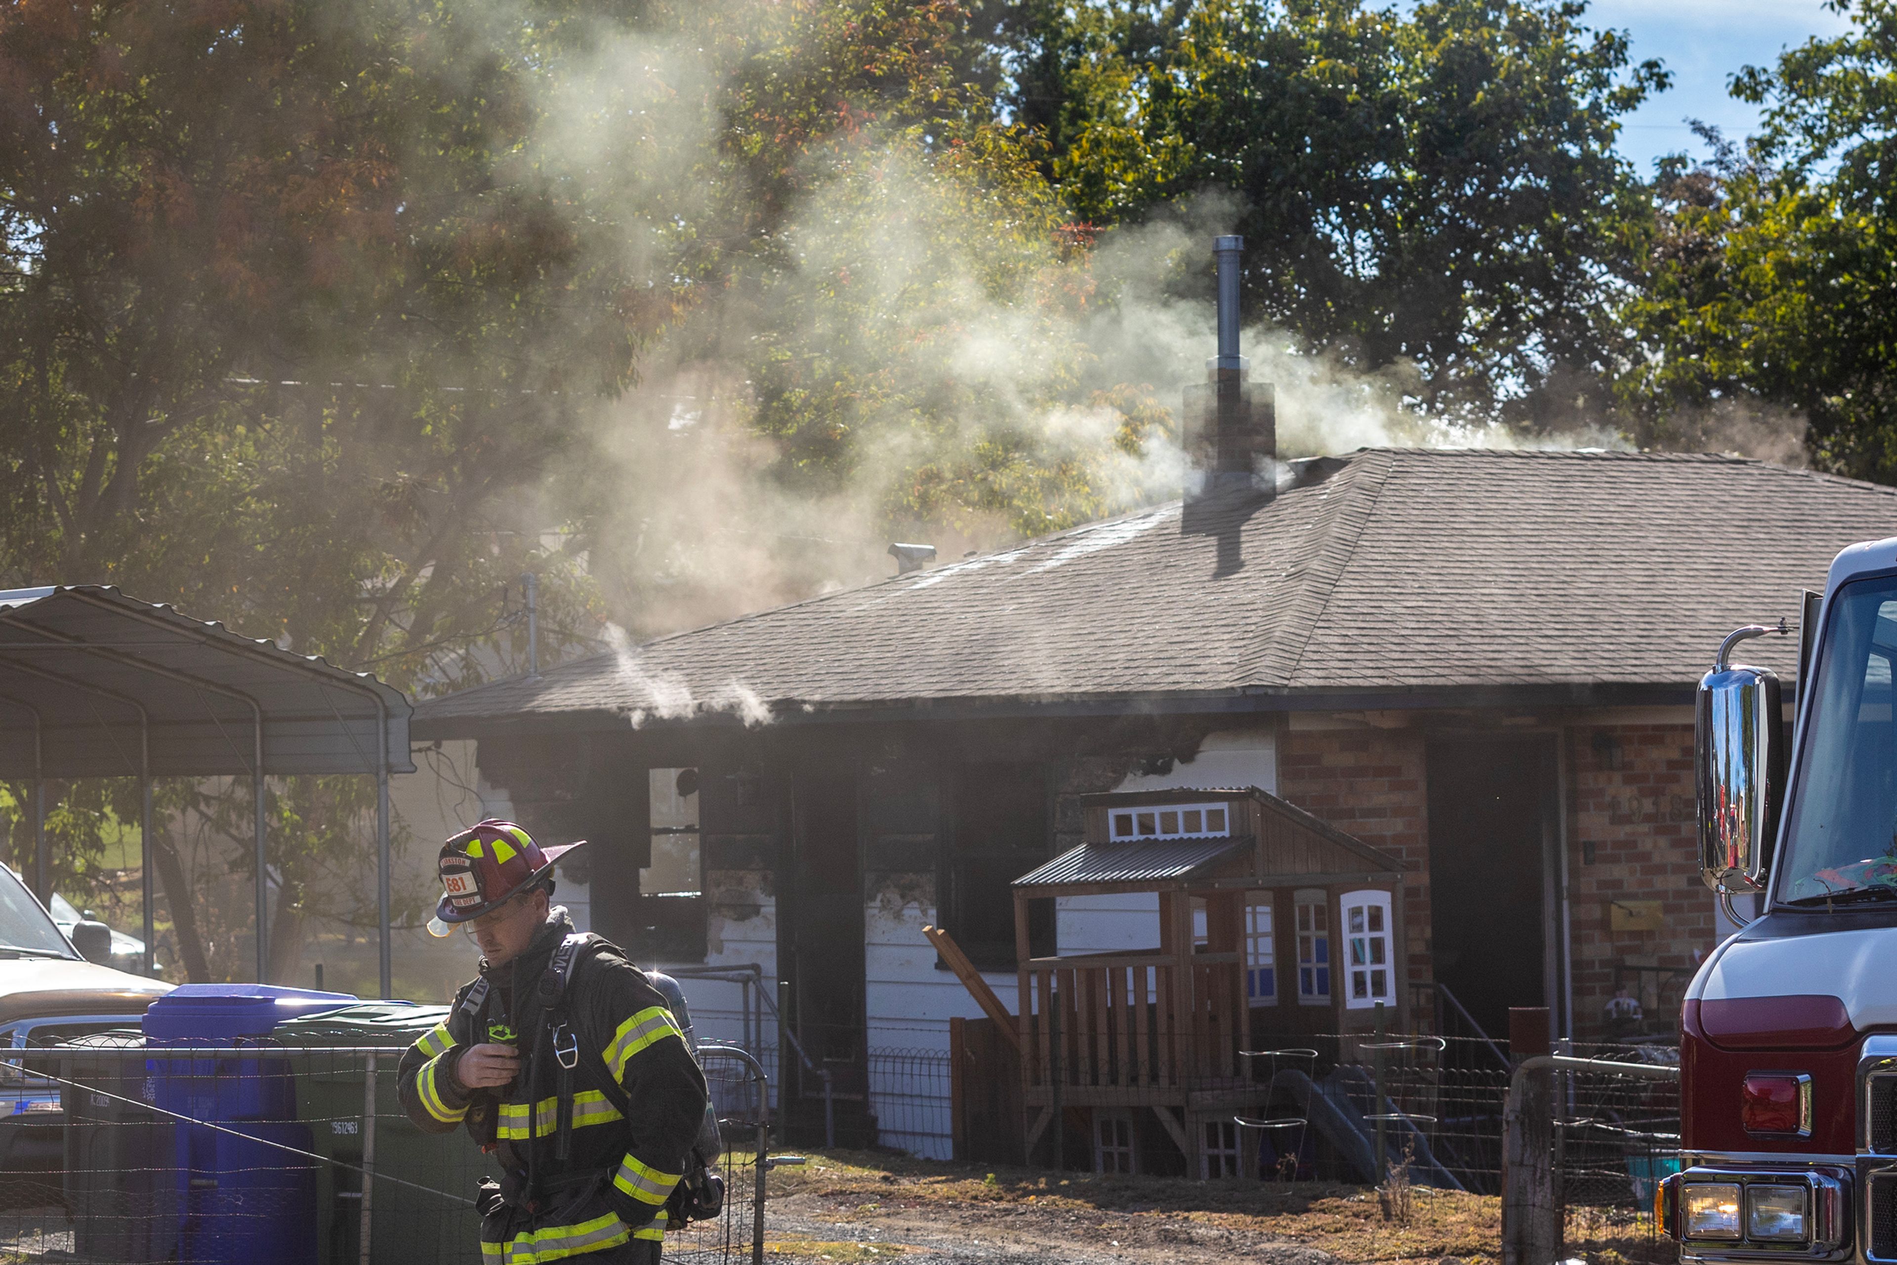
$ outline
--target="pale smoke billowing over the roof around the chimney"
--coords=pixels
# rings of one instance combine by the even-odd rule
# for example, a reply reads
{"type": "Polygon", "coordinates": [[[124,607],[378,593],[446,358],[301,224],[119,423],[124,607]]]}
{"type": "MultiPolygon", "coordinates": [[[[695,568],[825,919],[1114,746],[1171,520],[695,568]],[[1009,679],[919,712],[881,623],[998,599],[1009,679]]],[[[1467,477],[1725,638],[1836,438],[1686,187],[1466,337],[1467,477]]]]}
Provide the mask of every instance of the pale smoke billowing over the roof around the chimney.
{"type": "MultiPolygon", "coordinates": [[[[763,6],[719,13],[742,28],[763,6]]],[[[1049,197],[916,129],[867,125],[806,157],[763,231],[732,212],[755,190],[719,157],[728,63],[709,44],[601,34],[539,138],[548,169],[613,182],[628,211],[588,248],[645,269],[670,303],[586,468],[565,472],[586,489],[565,518],[594,523],[618,618],[639,637],[734,618],[892,575],[892,541],[952,561],[1180,493],[1180,393],[1214,345],[1212,303],[1180,279],[1206,267],[1229,201],[1077,248],[1049,197]],[[711,231],[742,248],[715,273],[668,275],[679,239],[711,231]]],[[[1425,419],[1404,406],[1419,385],[1406,366],[1362,374],[1280,330],[1246,330],[1244,351],[1275,391],[1282,457],[1628,446],[1607,425],[1523,438],[1425,419]]],[[[1745,444],[1796,455],[1789,431],[1755,423],[1745,444]]],[[[1707,419],[1666,442],[1724,448],[1740,429],[1707,419]]],[[[694,700],[617,628],[613,647],[658,700],[634,724],[706,706],[768,721],[738,681],[694,700]]]]}

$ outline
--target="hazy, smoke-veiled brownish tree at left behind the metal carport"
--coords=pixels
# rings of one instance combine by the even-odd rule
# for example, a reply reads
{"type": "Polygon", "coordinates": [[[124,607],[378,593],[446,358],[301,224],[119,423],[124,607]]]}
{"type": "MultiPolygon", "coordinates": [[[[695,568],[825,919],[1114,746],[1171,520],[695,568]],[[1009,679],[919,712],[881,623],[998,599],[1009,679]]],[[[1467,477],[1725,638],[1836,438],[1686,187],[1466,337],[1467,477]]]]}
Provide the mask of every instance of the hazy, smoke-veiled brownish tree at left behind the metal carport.
{"type": "MultiPolygon", "coordinates": [[[[118,582],[412,687],[505,668],[438,652],[518,635],[503,590],[533,567],[567,639],[588,597],[541,546],[539,480],[580,400],[630,374],[639,313],[571,190],[520,161],[535,99],[489,36],[400,0],[0,13],[11,582],[118,582]]],[[[366,861],[360,797],[281,791],[292,931],[360,916],[353,876],[322,889],[334,852],[296,844],[366,861]]],[[[176,812],[211,793],[165,787],[176,812]]],[[[102,882],[85,795],[49,823],[76,897],[102,882]]],[[[199,816],[247,798],[218,795],[199,816]]],[[[176,931],[203,941],[154,842],[176,931]]]]}

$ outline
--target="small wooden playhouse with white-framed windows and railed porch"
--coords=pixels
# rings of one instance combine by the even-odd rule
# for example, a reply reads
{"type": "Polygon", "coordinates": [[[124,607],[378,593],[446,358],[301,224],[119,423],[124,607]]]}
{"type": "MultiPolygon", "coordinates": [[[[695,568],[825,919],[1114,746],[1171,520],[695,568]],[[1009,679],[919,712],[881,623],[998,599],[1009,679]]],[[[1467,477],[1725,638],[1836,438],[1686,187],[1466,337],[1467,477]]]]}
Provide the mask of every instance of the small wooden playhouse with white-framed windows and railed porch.
{"type": "Polygon", "coordinates": [[[1083,1117],[1095,1168],[1136,1170],[1151,1111],[1189,1174],[1250,1174],[1233,1117],[1267,1085],[1241,1051],[1370,1032],[1379,1007],[1408,1030],[1406,867],[1254,787],[1081,806],[1085,842],[1013,884],[1026,1149],[1083,1117]],[[1062,937],[1108,907],[1125,946],[1034,958],[1034,901],[1062,937]]]}

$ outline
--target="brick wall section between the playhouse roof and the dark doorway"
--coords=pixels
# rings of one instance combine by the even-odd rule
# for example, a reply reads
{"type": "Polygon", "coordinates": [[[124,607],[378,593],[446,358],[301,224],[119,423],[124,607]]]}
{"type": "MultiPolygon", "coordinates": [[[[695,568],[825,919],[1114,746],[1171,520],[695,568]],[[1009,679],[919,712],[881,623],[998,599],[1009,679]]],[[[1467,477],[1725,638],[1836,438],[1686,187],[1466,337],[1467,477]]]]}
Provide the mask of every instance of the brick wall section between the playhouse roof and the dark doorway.
{"type": "Polygon", "coordinates": [[[1428,967],[1428,798],[1423,736],[1408,730],[1292,730],[1280,736],[1279,795],[1411,865],[1404,876],[1409,979],[1428,967]]]}

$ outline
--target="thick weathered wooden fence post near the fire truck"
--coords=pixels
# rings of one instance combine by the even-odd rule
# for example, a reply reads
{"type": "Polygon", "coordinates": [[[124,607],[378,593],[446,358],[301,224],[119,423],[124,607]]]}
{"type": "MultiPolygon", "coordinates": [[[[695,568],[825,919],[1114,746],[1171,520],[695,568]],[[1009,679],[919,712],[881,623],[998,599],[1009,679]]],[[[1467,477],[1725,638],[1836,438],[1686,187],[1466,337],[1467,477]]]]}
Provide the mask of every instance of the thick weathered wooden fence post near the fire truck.
{"type": "Polygon", "coordinates": [[[1508,1053],[1516,1075],[1502,1119],[1502,1265],[1550,1265],[1561,1254],[1548,1051],[1548,1007],[1510,1007],[1508,1053]]]}

